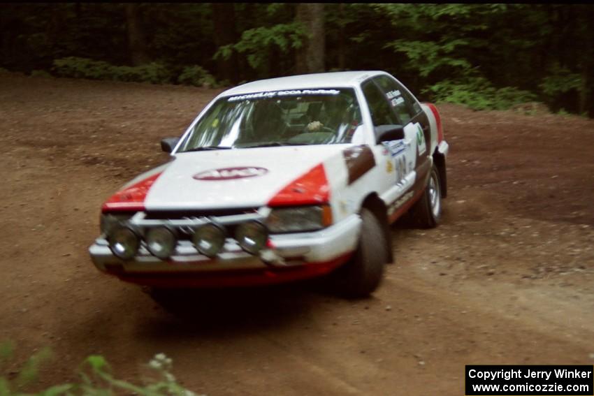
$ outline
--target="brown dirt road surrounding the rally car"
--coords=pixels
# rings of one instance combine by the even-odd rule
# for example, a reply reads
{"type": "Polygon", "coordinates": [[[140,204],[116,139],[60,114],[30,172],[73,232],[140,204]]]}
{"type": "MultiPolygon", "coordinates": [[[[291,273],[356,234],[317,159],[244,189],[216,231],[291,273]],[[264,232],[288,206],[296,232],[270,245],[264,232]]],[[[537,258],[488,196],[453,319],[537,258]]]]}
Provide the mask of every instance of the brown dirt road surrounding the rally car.
{"type": "Polygon", "coordinates": [[[463,395],[466,364],[594,363],[594,122],[440,107],[449,197],[435,230],[393,227],[375,297],[291,286],[204,293],[187,317],[95,270],[99,208],[166,160],[217,91],[0,75],[0,340],[42,346],[42,384],[101,353],[154,353],[213,395],[463,395]]]}

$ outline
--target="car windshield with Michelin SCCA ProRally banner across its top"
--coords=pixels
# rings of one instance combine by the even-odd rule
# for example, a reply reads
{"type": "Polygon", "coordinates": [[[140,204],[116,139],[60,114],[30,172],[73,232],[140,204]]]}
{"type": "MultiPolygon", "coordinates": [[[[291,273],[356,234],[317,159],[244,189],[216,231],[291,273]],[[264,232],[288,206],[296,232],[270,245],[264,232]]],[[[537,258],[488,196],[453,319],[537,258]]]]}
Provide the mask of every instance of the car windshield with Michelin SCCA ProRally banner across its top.
{"type": "Polygon", "coordinates": [[[354,89],[226,96],[194,125],[178,152],[349,143],[360,124],[354,89]]]}

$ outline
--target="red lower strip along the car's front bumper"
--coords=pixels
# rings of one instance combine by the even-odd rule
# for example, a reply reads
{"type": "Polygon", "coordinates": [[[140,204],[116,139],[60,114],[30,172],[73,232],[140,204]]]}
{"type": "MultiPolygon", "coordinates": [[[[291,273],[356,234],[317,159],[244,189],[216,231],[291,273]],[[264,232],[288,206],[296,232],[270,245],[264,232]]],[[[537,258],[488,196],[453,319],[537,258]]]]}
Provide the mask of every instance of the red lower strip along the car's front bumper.
{"type": "Polygon", "coordinates": [[[345,264],[353,253],[324,263],[307,263],[296,267],[270,267],[258,270],[217,272],[164,272],[161,274],[115,274],[122,281],[164,288],[223,288],[282,284],[321,277],[345,264]]]}

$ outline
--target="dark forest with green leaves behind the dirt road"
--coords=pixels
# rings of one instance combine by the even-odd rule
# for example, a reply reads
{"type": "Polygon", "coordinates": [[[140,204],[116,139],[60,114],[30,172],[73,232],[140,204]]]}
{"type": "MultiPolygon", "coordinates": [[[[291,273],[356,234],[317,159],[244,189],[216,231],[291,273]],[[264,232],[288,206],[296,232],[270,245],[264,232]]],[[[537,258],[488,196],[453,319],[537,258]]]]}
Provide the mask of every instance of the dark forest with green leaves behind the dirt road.
{"type": "Polygon", "coordinates": [[[588,4],[4,3],[0,72],[227,87],[385,70],[423,101],[594,117],[588,4]]]}

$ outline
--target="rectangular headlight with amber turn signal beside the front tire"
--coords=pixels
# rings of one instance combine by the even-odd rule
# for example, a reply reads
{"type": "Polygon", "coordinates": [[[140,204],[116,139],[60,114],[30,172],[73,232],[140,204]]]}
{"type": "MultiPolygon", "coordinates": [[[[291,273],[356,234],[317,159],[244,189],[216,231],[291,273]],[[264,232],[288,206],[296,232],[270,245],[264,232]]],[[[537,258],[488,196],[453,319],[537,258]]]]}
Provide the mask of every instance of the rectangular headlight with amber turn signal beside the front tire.
{"type": "Polygon", "coordinates": [[[266,225],[271,233],[314,231],[332,224],[332,210],[328,205],[275,208],[266,225]]]}

